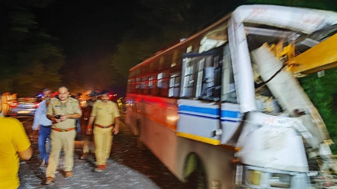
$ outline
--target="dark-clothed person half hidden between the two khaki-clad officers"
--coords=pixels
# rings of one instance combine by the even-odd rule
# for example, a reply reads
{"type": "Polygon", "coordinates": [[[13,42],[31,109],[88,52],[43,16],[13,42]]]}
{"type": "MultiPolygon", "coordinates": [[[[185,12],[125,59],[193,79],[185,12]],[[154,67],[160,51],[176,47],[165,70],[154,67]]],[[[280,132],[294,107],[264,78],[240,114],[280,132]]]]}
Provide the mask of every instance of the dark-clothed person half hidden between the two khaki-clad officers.
{"type": "Polygon", "coordinates": [[[91,91],[90,93],[91,99],[87,100],[85,106],[83,107],[83,116],[81,120],[81,129],[82,133],[84,134],[84,140],[83,140],[83,154],[80,156],[79,159],[86,159],[88,157],[88,154],[90,153],[89,147],[92,146],[92,152],[95,152],[95,146],[93,144],[93,135],[87,134],[87,126],[88,121],[90,117],[90,113],[92,110],[92,106],[97,101],[97,93],[96,91],[91,91]]]}

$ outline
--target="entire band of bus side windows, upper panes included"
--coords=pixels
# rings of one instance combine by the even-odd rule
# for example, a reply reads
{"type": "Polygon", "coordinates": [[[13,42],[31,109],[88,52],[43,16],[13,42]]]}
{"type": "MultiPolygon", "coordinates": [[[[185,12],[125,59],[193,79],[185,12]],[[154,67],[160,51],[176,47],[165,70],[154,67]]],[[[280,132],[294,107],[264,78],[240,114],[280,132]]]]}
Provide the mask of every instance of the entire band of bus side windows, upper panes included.
{"type": "MultiPolygon", "coordinates": [[[[127,93],[237,102],[227,25],[130,69],[127,93]]],[[[160,53],[160,52],[159,52],[160,53]]]]}

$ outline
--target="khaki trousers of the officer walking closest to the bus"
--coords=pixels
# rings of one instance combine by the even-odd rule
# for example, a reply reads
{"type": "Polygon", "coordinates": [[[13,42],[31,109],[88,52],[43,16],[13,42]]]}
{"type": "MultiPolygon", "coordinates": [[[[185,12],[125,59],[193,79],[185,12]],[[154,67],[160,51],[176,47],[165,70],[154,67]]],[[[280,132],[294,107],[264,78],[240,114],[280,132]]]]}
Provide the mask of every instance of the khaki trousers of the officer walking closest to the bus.
{"type": "Polygon", "coordinates": [[[110,157],[111,144],[112,144],[112,130],[111,128],[99,128],[94,127],[94,140],[95,140],[95,156],[96,156],[96,165],[104,165],[106,160],[110,157]]]}

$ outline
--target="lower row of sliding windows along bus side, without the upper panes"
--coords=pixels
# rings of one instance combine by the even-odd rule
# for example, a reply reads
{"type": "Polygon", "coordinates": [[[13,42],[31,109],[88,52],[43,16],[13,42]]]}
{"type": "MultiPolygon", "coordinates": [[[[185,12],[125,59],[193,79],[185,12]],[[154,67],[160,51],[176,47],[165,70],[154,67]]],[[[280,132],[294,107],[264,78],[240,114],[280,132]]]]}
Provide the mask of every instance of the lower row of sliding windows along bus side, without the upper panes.
{"type": "Polygon", "coordinates": [[[129,79],[127,92],[237,102],[228,45],[182,58],[182,65],[129,79]]]}

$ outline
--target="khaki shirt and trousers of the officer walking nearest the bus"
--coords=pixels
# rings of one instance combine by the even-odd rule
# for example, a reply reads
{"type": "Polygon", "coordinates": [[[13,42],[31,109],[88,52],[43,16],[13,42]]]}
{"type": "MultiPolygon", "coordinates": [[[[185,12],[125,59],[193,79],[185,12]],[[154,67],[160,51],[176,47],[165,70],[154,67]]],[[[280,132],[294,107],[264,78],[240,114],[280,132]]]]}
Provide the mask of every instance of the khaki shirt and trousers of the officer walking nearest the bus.
{"type": "MultiPolygon", "coordinates": [[[[116,103],[111,101],[108,101],[106,104],[103,104],[102,101],[95,102],[90,115],[95,117],[95,125],[97,124],[103,127],[114,124],[115,117],[120,116],[116,103]]],[[[110,156],[113,139],[112,130],[113,127],[100,128],[94,126],[93,133],[97,166],[105,165],[106,160],[108,160],[110,156]]]]}

